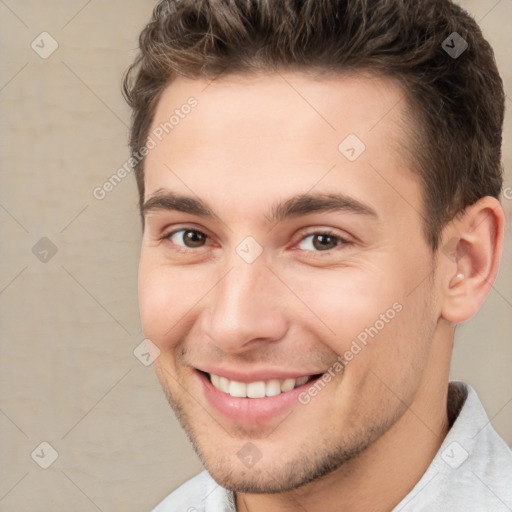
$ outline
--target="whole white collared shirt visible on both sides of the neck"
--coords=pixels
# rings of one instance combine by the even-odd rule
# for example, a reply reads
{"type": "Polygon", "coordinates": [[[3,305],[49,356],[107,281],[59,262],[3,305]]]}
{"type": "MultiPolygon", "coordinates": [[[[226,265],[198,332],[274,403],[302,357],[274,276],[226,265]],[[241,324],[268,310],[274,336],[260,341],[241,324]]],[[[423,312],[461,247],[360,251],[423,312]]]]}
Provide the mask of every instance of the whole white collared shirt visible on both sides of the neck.
{"type": "MultiPolygon", "coordinates": [[[[448,397],[453,425],[419,482],[392,512],[512,512],[512,451],[471,386],[452,382],[448,397]]],[[[152,512],[236,512],[234,493],[203,471],[152,512]]]]}

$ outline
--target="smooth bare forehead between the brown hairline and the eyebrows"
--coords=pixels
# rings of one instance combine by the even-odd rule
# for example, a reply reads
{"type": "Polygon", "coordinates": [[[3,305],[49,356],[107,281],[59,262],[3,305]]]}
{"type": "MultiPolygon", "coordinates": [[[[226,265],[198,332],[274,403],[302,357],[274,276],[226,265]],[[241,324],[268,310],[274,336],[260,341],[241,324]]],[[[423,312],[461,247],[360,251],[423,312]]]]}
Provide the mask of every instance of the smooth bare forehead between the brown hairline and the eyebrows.
{"type": "Polygon", "coordinates": [[[371,75],[177,78],[150,129],[145,197],[162,187],[231,202],[246,193],[249,208],[312,187],[361,196],[382,188],[376,173],[387,169],[411,181],[405,108],[397,82],[371,75]]]}

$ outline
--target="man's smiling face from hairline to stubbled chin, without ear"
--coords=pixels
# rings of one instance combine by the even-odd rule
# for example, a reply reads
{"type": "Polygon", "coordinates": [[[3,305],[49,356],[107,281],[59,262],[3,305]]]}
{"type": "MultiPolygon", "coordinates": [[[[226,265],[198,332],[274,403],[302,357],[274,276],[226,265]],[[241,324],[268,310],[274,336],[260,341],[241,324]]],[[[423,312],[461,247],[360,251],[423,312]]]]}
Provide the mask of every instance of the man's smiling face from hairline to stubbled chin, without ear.
{"type": "Polygon", "coordinates": [[[228,488],[285,490],[339,467],[435,378],[402,96],[389,80],[289,73],[179,78],[158,104],[141,320],[171,405],[228,488]],[[154,199],[169,193],[190,200],[154,199]]]}

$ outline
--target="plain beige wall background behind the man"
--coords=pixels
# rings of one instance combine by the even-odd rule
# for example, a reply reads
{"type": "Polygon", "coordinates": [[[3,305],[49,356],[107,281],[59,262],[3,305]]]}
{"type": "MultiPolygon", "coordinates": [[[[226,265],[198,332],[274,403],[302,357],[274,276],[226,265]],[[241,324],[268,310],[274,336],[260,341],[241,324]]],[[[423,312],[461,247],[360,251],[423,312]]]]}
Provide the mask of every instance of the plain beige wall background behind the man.
{"type": "MultiPolygon", "coordinates": [[[[481,20],[505,80],[512,187],[512,0],[460,3],[481,20]]],[[[0,0],[1,511],[148,510],[200,470],[152,368],[133,354],[143,339],[134,177],[103,200],[92,193],[128,157],[120,81],[152,7],[0,0]],[[31,47],[43,31],[59,45],[46,59],[31,47]],[[33,253],[42,237],[57,249],[46,263],[33,253]],[[43,441],[58,453],[48,469],[31,457],[50,460],[43,441]]],[[[512,444],[512,199],[503,202],[501,273],[460,326],[452,377],[477,389],[512,444]]]]}

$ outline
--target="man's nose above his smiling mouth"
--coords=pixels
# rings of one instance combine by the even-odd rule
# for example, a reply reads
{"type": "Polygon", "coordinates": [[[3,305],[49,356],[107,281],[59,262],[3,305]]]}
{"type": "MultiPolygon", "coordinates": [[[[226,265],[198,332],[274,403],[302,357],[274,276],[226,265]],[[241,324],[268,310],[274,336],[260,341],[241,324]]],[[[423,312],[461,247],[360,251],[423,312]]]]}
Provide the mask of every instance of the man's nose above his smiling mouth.
{"type": "Polygon", "coordinates": [[[226,353],[243,353],[282,339],[288,328],[284,286],[264,258],[250,264],[236,258],[203,311],[207,337],[226,353]]]}

